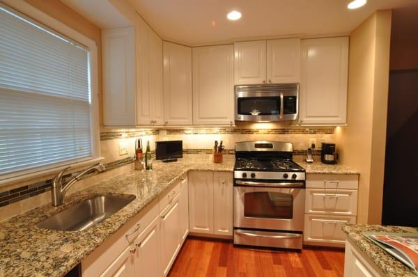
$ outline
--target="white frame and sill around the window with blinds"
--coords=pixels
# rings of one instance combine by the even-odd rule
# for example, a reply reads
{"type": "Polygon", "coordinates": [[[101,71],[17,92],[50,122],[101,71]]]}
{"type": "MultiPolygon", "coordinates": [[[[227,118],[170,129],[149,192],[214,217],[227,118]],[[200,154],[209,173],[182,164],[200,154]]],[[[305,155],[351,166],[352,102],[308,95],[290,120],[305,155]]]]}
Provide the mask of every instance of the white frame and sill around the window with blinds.
{"type": "Polygon", "coordinates": [[[35,22],[44,24],[50,29],[53,29],[57,33],[65,35],[71,40],[84,45],[88,48],[88,58],[90,65],[90,86],[91,86],[91,141],[92,141],[92,157],[83,159],[82,161],[63,161],[47,166],[40,166],[37,168],[30,168],[27,170],[17,171],[15,173],[0,175],[0,185],[12,184],[14,182],[20,182],[41,175],[48,175],[57,173],[63,168],[86,166],[88,164],[96,163],[103,158],[100,157],[100,121],[99,121],[99,93],[98,93],[98,47],[94,40],[87,38],[85,35],[71,29],[62,22],[59,22],[54,17],[43,13],[41,10],[31,6],[23,0],[1,0],[0,3],[4,3],[6,8],[10,7],[18,12],[31,17],[35,22]],[[7,7],[8,6],[8,7],[7,7]]]}

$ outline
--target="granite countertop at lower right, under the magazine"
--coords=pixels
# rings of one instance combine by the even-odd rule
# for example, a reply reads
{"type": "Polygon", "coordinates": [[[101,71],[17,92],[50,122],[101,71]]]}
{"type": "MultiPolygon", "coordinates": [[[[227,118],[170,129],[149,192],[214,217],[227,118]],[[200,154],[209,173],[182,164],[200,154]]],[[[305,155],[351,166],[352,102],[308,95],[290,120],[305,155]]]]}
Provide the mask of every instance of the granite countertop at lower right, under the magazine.
{"type": "Polygon", "coordinates": [[[365,225],[365,224],[343,224],[343,231],[346,232],[348,238],[361,251],[389,277],[417,277],[412,269],[405,266],[401,261],[384,251],[382,248],[366,239],[362,232],[412,232],[418,233],[418,228],[398,227],[398,226],[382,226],[382,225],[365,225]]]}

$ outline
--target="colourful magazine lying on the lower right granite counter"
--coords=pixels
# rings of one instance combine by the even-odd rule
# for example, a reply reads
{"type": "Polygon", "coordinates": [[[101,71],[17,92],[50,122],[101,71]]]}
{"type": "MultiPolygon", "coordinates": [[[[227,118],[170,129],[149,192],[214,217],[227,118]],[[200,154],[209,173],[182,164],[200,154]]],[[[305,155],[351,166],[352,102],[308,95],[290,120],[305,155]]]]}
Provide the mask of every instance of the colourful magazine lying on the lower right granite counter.
{"type": "Polygon", "coordinates": [[[363,235],[418,274],[418,234],[363,232],[363,235]]]}

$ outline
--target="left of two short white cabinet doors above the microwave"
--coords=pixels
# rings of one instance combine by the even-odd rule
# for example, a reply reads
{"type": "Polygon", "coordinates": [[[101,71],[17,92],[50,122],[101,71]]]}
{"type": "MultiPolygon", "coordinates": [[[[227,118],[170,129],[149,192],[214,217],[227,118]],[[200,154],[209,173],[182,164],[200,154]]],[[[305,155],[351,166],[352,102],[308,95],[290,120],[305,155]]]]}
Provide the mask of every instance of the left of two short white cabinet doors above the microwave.
{"type": "Polygon", "coordinates": [[[233,47],[235,85],[265,83],[265,40],[236,42],[233,47]]]}

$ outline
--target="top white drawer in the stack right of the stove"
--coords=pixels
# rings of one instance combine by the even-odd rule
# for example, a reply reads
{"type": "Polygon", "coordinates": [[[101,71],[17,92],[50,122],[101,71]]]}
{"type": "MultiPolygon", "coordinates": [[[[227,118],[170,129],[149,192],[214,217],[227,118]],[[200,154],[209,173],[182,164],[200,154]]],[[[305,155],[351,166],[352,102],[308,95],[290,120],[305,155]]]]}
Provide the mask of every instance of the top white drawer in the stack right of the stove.
{"type": "Polygon", "coordinates": [[[310,189],[358,189],[358,187],[357,174],[307,174],[307,188],[310,189]]]}

